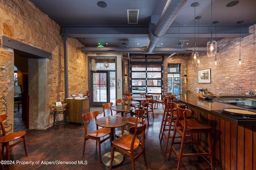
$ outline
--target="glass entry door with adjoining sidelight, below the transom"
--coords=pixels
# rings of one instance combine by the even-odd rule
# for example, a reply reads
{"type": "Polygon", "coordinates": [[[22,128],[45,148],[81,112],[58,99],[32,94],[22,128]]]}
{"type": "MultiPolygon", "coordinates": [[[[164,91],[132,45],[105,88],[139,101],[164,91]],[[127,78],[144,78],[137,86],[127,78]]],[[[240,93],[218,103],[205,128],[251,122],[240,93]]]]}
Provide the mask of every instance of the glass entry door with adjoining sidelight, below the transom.
{"type": "Polygon", "coordinates": [[[92,106],[102,106],[104,103],[116,100],[116,76],[115,72],[100,71],[92,72],[93,90],[92,106]]]}

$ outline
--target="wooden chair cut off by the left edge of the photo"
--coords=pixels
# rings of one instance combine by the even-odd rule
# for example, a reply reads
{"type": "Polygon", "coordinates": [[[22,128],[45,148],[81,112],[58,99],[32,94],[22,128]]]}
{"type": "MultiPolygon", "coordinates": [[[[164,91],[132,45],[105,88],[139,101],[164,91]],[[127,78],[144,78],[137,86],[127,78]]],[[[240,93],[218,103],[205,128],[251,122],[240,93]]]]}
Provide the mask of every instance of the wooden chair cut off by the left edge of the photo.
{"type": "MultiPolygon", "coordinates": [[[[10,160],[10,149],[18,145],[19,143],[23,142],[26,156],[28,156],[28,149],[27,149],[27,143],[26,143],[26,137],[25,137],[26,131],[13,132],[13,133],[6,134],[6,130],[3,123],[3,121],[6,118],[7,118],[6,114],[0,115],[0,125],[2,128],[2,137],[0,137],[0,143],[2,143],[2,155],[4,154],[4,147],[5,147],[7,160],[10,160]]],[[[10,169],[10,164],[8,164],[8,169],[10,169]]]]}

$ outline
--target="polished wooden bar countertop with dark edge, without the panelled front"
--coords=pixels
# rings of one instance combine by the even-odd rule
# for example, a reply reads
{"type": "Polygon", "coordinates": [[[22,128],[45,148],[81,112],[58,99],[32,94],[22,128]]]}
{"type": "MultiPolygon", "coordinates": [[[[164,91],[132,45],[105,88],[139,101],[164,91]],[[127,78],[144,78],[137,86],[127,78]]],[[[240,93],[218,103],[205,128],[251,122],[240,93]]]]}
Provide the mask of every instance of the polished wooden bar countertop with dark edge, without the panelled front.
{"type": "Polygon", "coordinates": [[[176,98],[180,103],[184,103],[187,106],[194,107],[201,111],[207,112],[210,115],[214,115],[216,117],[219,117],[220,119],[224,119],[225,121],[228,121],[235,125],[240,125],[240,126],[256,125],[256,117],[232,115],[232,114],[224,113],[223,111],[221,111],[221,109],[225,107],[239,108],[239,109],[241,109],[242,107],[221,103],[221,102],[216,102],[212,100],[202,100],[200,98],[197,98],[195,94],[183,94],[183,95],[176,96],[176,98]]]}

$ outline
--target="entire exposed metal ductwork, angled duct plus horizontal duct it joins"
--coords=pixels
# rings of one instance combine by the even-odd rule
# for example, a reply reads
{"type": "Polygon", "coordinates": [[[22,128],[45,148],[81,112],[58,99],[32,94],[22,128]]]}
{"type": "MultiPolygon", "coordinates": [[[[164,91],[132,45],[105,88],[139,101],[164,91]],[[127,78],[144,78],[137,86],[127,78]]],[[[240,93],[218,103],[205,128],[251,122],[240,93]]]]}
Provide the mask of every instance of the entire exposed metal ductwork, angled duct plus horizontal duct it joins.
{"type": "MultiPolygon", "coordinates": [[[[150,25],[149,39],[147,47],[81,47],[83,53],[143,53],[143,54],[156,54],[156,53],[192,53],[194,47],[190,48],[177,48],[177,47],[156,47],[156,45],[162,40],[166,31],[175,20],[176,16],[186,4],[187,0],[168,0],[158,23],[153,28],[150,25]]],[[[200,53],[206,53],[206,47],[198,47],[200,53]]],[[[217,47],[217,52],[220,48],[217,47]]]]}

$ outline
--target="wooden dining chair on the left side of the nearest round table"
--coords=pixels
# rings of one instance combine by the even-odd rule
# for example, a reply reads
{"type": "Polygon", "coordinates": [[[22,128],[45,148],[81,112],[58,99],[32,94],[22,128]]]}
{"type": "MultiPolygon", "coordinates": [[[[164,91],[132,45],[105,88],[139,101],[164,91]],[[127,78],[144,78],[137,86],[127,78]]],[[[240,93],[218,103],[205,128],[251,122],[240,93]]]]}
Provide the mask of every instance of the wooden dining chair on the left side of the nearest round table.
{"type": "Polygon", "coordinates": [[[87,132],[87,126],[86,121],[90,121],[92,119],[97,120],[97,116],[99,115],[99,111],[91,111],[88,113],[84,113],[83,116],[83,122],[84,122],[84,146],[83,146],[83,155],[84,155],[84,149],[85,149],[85,142],[88,139],[93,139],[96,141],[96,147],[98,145],[99,147],[99,160],[101,162],[101,150],[100,150],[100,144],[104,141],[110,139],[110,128],[98,128],[98,125],[96,125],[96,130],[92,131],[90,133],[87,132]]]}

